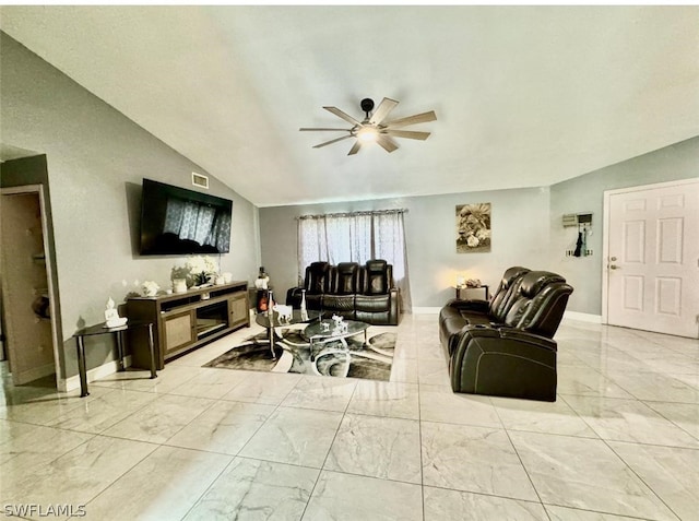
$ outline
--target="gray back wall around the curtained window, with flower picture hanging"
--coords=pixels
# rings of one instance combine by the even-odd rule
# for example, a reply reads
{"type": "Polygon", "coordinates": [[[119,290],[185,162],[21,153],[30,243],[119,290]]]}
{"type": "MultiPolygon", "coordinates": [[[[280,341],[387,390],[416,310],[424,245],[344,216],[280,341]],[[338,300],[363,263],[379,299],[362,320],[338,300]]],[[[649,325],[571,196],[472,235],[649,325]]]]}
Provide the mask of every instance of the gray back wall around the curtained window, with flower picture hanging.
{"type": "Polygon", "coordinates": [[[513,264],[547,265],[549,194],[546,188],[383,199],[260,209],[262,261],[280,300],[297,283],[295,217],[306,214],[404,208],[413,307],[438,307],[454,296],[457,275],[497,285],[513,264]],[[455,206],[489,202],[489,253],[457,253],[455,206]]]}

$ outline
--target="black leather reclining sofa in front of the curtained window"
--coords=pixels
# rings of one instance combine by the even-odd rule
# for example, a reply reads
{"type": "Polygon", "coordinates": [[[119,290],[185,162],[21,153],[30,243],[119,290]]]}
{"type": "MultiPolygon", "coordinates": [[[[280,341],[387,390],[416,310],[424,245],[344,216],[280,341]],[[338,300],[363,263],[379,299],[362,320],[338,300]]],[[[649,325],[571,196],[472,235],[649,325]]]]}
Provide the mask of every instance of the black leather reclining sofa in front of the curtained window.
{"type": "Polygon", "coordinates": [[[298,308],[301,289],[306,289],[306,307],[322,310],[330,317],[370,324],[398,325],[400,293],[393,282],[393,267],[381,259],[357,262],[311,262],[306,268],[301,287],[286,293],[286,304],[298,308]]]}

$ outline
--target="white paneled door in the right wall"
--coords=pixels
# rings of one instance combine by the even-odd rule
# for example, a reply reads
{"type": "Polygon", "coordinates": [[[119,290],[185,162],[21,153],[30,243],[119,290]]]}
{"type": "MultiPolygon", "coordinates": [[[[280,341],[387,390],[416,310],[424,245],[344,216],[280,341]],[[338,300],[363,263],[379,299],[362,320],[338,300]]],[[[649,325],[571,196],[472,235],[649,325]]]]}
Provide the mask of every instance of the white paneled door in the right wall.
{"type": "Polygon", "coordinates": [[[698,338],[699,180],[607,197],[607,322],[698,338]]]}

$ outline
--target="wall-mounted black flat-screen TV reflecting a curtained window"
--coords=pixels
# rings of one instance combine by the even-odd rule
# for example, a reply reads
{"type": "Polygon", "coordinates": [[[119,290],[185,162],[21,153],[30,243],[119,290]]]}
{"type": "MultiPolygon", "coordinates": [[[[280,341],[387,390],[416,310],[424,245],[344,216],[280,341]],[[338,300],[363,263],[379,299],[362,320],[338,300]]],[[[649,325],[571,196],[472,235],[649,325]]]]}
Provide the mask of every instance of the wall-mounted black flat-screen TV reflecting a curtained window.
{"type": "Polygon", "coordinates": [[[143,179],[141,254],[228,253],[233,201],[143,179]]]}

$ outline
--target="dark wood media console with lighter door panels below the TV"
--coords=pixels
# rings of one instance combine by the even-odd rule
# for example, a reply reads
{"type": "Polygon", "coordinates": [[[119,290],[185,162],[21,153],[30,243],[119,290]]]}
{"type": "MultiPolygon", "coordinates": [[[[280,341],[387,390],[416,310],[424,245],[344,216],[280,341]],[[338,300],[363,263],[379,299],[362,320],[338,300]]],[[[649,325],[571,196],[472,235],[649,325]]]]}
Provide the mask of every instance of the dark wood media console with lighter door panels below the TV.
{"type": "MultiPolygon", "coordinates": [[[[153,322],[155,362],[165,363],[244,325],[250,327],[248,283],[189,289],[156,297],[131,297],[127,300],[129,321],[153,322]]],[[[129,331],[131,365],[150,368],[147,339],[142,331],[129,331]]]]}

